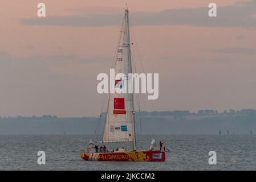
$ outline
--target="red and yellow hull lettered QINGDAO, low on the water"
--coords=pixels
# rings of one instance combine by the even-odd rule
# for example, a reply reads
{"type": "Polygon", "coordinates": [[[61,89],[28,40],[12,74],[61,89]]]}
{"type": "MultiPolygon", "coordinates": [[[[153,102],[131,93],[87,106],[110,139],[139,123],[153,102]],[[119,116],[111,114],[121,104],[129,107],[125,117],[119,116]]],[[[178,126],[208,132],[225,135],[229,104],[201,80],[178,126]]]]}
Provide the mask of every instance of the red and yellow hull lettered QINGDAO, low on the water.
{"type": "Polygon", "coordinates": [[[132,151],[132,152],[106,152],[81,153],[81,158],[91,161],[120,161],[120,162],[165,162],[164,151],[132,151]]]}

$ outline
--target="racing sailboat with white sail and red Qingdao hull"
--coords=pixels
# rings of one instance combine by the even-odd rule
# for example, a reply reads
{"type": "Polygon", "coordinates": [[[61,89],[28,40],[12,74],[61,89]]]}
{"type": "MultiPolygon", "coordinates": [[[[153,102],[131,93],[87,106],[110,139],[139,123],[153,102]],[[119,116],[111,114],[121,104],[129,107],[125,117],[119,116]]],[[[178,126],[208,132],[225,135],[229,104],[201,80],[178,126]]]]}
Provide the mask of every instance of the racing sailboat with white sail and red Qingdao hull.
{"type": "MultiPolygon", "coordinates": [[[[128,9],[125,9],[124,13],[116,50],[117,56],[114,61],[115,73],[124,73],[126,76],[115,80],[115,88],[123,88],[124,82],[129,79],[128,73],[132,73],[128,9]]],[[[133,93],[110,93],[101,143],[132,142],[132,148],[130,150],[117,148],[111,152],[94,151],[92,142],[90,142],[90,147],[86,152],[82,151],[80,157],[90,161],[165,162],[165,151],[155,150],[154,139],[148,150],[137,150],[134,115],[133,93]]]]}

